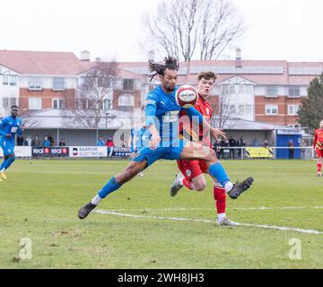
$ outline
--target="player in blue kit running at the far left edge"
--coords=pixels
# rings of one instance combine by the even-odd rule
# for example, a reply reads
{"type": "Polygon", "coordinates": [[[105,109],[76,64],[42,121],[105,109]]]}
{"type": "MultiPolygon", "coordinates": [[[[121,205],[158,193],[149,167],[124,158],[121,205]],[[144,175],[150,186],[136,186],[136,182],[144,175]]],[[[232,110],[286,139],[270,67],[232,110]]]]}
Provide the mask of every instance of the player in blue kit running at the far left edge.
{"type": "Polygon", "coordinates": [[[11,116],[0,120],[0,146],[4,151],[4,161],[0,167],[0,181],[6,179],[5,170],[12,165],[14,157],[15,135],[22,135],[22,119],[18,117],[19,109],[17,106],[11,107],[11,116]]]}

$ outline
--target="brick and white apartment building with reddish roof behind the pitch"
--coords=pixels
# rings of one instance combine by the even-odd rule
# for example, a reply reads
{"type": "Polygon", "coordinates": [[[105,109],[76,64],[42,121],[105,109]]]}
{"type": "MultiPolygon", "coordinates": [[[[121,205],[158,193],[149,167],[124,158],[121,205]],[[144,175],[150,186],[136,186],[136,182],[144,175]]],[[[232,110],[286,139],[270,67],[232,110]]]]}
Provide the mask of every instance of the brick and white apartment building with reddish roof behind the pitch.
{"type": "MultiPolygon", "coordinates": [[[[80,108],[81,79],[94,65],[87,51],[78,58],[74,53],[0,50],[0,117],[13,103],[22,110],[80,108]]],[[[243,60],[238,50],[234,60],[180,63],[179,84],[195,84],[203,71],[217,74],[210,99],[216,114],[298,126],[301,98],[323,63],[243,60]]],[[[148,74],[147,62],[118,63],[118,81],[101,109],[143,110],[146,93],[158,83],[149,83],[148,74]]]]}

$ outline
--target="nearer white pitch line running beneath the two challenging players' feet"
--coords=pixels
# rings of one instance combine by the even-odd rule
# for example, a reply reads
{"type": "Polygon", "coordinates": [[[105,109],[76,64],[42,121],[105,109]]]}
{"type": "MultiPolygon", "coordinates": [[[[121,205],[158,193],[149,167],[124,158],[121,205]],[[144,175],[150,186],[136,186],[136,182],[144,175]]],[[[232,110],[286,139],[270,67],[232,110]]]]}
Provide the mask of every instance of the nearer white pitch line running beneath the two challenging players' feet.
{"type": "MultiPolygon", "coordinates": [[[[170,220],[177,222],[205,222],[205,223],[214,223],[214,221],[205,220],[205,219],[193,219],[193,218],[185,218],[185,217],[165,217],[165,216],[153,216],[153,215],[139,215],[139,214],[127,214],[127,213],[117,213],[115,211],[109,210],[96,210],[93,213],[100,214],[110,214],[117,215],[123,217],[132,217],[132,218],[150,218],[150,219],[158,219],[158,220],[170,220]]],[[[301,228],[293,228],[293,227],[285,227],[285,226],[275,226],[275,225],[266,225],[266,224],[252,224],[252,223],[240,223],[237,222],[240,226],[249,226],[249,227],[258,227],[265,229],[273,229],[273,230],[288,230],[288,231],[296,231],[301,233],[310,233],[310,234],[323,234],[323,231],[319,230],[303,230],[301,228]]]]}

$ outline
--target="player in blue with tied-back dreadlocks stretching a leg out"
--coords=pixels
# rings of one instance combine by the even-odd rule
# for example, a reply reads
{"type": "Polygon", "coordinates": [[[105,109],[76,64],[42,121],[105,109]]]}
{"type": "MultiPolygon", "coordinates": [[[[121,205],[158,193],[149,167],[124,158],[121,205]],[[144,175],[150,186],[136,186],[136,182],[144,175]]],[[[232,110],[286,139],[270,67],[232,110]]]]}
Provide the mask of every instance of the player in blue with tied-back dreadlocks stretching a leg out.
{"type": "MultiPolygon", "coordinates": [[[[175,100],[178,60],[174,57],[166,57],[164,65],[149,61],[149,68],[150,72],[154,72],[153,76],[158,74],[161,82],[161,85],[149,91],[145,102],[145,123],[151,133],[149,144],[136,152],[135,158],[130,161],[127,168],[110,178],[91,202],[80,208],[78,212],[80,219],[84,219],[91,213],[103,198],[160,159],[204,160],[210,175],[222,184],[228,196],[233,199],[240,196],[252,184],[253,178],[251,177],[233,184],[223,169],[223,165],[217,160],[214,150],[201,143],[188,142],[179,138],[179,111],[184,108],[180,107],[175,100]]],[[[222,130],[206,123],[204,117],[196,109],[192,107],[185,110],[193,121],[207,126],[211,135],[225,137],[222,130]]]]}

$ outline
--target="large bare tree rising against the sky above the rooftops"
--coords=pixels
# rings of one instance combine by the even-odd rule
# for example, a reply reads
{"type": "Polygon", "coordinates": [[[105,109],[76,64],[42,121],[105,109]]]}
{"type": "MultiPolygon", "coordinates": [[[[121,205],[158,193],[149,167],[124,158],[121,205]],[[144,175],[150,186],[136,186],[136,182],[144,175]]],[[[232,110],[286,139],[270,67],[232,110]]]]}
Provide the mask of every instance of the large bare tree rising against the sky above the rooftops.
{"type": "Polygon", "coordinates": [[[230,0],[162,0],[143,22],[145,41],[186,62],[217,59],[245,31],[230,0]]]}

